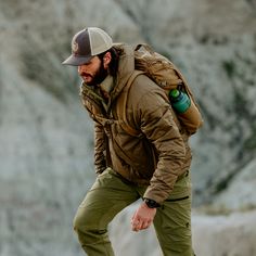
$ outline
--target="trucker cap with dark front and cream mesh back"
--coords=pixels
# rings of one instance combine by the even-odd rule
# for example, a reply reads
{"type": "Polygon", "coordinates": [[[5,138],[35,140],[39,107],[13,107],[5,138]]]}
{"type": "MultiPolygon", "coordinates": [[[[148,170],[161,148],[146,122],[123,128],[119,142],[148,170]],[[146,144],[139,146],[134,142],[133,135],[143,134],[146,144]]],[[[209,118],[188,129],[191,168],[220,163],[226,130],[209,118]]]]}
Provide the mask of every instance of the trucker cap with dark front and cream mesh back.
{"type": "Polygon", "coordinates": [[[107,51],[113,46],[112,38],[101,28],[88,27],[78,31],[72,39],[72,55],[62,64],[79,66],[93,56],[107,51]]]}

